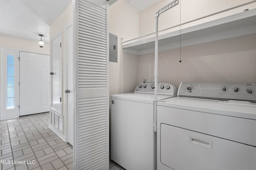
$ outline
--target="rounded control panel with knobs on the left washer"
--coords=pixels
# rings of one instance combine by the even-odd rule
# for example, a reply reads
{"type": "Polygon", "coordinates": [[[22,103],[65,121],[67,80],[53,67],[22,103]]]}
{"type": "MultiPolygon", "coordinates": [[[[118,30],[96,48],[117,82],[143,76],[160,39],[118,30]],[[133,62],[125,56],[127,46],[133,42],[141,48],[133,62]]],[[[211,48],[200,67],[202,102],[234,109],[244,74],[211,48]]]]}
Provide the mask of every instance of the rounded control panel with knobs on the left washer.
{"type": "MultiPolygon", "coordinates": [[[[158,94],[176,96],[177,89],[174,85],[168,83],[158,83],[158,94]]],[[[141,83],[134,90],[135,93],[155,93],[155,84],[154,83],[141,83]]]]}

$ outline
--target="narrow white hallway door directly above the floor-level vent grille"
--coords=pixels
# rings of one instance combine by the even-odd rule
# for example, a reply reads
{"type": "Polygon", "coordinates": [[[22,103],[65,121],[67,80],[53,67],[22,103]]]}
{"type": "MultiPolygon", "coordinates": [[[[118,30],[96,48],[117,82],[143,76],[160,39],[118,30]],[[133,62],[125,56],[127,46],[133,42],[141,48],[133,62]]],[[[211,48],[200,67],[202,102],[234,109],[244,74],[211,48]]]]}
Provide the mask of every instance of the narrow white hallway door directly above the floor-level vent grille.
{"type": "Polygon", "coordinates": [[[62,114],[62,49],[61,34],[52,43],[52,104],[51,109],[62,114]]]}

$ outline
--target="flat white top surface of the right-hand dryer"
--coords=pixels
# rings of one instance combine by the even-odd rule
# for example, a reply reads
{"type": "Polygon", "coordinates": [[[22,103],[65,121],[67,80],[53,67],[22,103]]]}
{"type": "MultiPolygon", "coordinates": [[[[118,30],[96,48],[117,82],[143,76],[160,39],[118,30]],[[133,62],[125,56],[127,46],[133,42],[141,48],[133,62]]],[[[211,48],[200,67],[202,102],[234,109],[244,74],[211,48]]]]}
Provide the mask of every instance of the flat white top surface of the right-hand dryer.
{"type": "Polygon", "coordinates": [[[157,105],[256,120],[256,104],[246,101],[175,97],[157,105]]]}

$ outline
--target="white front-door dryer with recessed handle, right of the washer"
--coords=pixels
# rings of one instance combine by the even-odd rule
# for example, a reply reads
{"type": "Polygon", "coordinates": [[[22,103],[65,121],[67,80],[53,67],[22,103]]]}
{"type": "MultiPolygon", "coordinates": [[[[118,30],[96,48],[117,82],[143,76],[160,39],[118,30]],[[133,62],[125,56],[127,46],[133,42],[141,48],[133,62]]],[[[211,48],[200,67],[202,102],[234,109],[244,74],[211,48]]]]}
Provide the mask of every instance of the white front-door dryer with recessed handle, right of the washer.
{"type": "Polygon", "coordinates": [[[158,102],[158,170],[256,170],[256,83],[181,83],[158,102]]]}

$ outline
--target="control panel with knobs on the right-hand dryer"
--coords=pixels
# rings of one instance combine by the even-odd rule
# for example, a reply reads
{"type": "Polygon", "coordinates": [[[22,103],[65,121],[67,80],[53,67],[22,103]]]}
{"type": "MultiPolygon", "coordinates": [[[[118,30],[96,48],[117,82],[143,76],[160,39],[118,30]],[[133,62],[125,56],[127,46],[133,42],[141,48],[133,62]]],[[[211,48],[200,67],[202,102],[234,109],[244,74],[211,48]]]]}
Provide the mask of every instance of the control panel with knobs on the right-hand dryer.
{"type": "Polygon", "coordinates": [[[178,96],[256,102],[256,83],[182,82],[178,96]]]}

